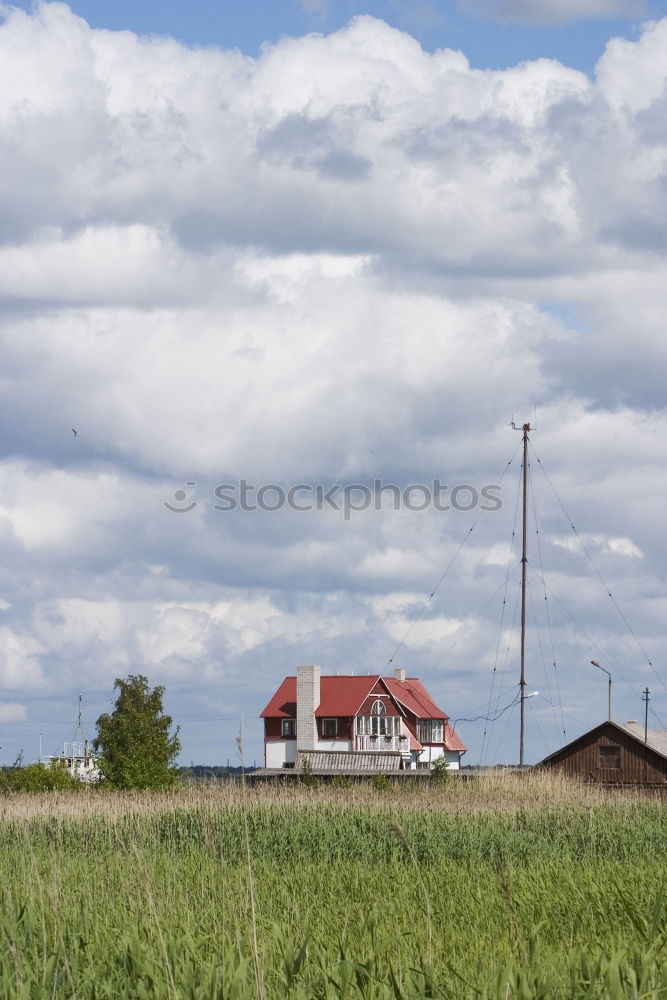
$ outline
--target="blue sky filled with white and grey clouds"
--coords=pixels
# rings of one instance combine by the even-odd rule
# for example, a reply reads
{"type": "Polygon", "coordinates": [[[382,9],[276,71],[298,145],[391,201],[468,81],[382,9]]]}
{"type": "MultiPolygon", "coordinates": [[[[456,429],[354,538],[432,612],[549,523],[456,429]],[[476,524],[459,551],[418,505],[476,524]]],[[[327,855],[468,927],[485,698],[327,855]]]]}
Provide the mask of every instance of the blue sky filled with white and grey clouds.
{"type": "Polygon", "coordinates": [[[261,762],[319,663],[515,763],[513,420],[527,760],[591,660],[667,726],[666,80],[658,2],[0,6],[0,762],[131,673],[261,762]]]}

